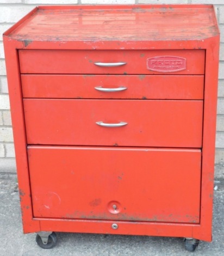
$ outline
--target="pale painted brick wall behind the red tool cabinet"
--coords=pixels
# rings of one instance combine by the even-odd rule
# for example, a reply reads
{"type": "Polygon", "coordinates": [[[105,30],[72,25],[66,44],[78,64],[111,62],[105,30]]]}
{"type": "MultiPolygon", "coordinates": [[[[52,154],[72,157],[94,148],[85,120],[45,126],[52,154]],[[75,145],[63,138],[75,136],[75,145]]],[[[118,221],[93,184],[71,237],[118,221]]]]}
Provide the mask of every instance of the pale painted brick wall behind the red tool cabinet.
{"type": "Polygon", "coordinates": [[[36,5],[45,4],[215,4],[220,24],[219,99],[217,107],[216,166],[217,176],[224,169],[224,1],[223,0],[0,0],[0,173],[15,172],[13,132],[10,120],[7,78],[2,33],[36,5]]]}

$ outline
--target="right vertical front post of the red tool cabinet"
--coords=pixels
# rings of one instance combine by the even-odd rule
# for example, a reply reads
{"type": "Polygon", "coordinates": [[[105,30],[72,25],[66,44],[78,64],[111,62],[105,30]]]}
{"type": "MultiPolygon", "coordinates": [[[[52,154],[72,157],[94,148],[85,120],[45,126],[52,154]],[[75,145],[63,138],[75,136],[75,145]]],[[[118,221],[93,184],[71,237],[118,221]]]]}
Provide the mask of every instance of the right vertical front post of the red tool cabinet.
{"type": "Polygon", "coordinates": [[[202,142],[201,226],[194,229],[194,237],[211,241],[219,36],[200,42],[198,47],[207,48],[207,50],[202,142]]]}

